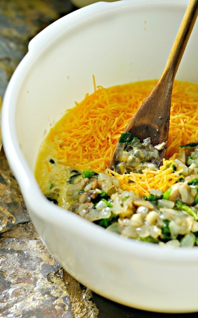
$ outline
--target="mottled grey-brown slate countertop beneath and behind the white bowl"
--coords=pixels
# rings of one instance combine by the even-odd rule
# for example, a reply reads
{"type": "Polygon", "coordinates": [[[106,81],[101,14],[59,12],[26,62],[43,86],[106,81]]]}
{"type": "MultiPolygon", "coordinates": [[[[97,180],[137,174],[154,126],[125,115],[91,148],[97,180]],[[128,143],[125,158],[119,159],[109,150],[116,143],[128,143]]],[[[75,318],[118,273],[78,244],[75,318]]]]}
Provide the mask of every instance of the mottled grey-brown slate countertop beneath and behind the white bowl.
{"type": "MultiPolygon", "coordinates": [[[[0,95],[47,25],[74,10],[68,0],[0,1],[0,95]]],[[[192,318],[128,308],[79,284],[50,255],[32,225],[23,197],[0,152],[0,317],[4,318],[192,318]]],[[[185,291],[184,291],[185,292],[185,291]]]]}

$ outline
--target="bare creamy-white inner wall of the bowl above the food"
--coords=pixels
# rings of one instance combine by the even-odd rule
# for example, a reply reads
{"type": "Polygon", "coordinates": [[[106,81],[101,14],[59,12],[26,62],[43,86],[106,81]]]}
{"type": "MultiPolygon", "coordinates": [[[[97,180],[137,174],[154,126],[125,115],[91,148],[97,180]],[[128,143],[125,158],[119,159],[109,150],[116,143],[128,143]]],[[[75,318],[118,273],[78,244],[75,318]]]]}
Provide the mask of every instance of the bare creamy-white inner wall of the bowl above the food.
{"type": "MultiPolygon", "coordinates": [[[[93,92],[93,75],[96,85],[105,87],[160,77],[185,8],[185,3],[166,1],[109,3],[105,10],[101,4],[92,15],[84,8],[82,19],[73,15],[70,27],[64,17],[61,23],[67,27],[53,38],[46,32],[47,45],[31,46],[20,69],[24,75],[16,111],[17,135],[31,169],[51,126],[93,92]]],[[[195,27],[178,79],[198,81],[197,31],[195,27]]]]}

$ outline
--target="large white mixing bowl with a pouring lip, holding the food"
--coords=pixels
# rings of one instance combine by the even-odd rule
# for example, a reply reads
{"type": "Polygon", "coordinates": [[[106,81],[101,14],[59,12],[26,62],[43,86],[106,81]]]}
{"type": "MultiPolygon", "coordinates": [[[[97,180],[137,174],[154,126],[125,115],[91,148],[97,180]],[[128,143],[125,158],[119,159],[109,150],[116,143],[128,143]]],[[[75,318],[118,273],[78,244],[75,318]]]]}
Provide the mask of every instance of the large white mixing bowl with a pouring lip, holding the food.
{"type": "MultiPolygon", "coordinates": [[[[103,86],[159,78],[187,0],[122,0],[79,9],[33,38],[3,100],[3,145],[44,244],[77,280],[111,300],[159,312],[198,311],[198,248],[165,249],[107,232],[51,204],[34,165],[65,112],[103,86]]],[[[177,79],[198,81],[198,24],[177,79]]]]}

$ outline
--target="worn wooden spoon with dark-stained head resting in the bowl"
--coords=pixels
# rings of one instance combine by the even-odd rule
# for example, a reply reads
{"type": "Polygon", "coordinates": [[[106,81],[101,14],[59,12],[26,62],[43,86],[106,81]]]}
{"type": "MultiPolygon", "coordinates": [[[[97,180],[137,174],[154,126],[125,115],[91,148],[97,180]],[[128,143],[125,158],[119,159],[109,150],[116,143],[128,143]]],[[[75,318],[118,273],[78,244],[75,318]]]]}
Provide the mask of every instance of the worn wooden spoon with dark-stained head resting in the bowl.
{"type": "MultiPolygon", "coordinates": [[[[164,143],[159,151],[161,162],[167,149],[173,82],[197,15],[198,0],[190,0],[159,81],[124,130],[131,133],[131,139],[138,137],[140,142],[150,137],[153,146],[164,143]]],[[[118,143],[109,165],[112,170],[119,163],[117,146],[118,143]]]]}

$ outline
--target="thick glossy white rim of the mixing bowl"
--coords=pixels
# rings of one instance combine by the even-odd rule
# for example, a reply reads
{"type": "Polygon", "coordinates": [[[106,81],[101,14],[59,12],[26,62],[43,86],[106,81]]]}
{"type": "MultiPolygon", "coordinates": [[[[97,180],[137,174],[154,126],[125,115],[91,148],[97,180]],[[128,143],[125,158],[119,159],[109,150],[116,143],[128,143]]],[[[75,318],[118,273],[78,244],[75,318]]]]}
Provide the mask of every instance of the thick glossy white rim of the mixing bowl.
{"type": "Polygon", "coordinates": [[[36,59],[35,53],[38,52],[38,54],[40,54],[42,50],[41,43],[43,50],[46,50],[46,47],[50,45],[49,37],[54,39],[56,36],[60,36],[61,31],[63,31],[63,26],[64,28],[65,26],[68,28],[75,27],[79,21],[82,23],[83,20],[86,21],[86,19],[90,18],[90,15],[93,18],[99,14],[106,14],[105,12],[109,10],[120,8],[120,5],[124,8],[128,5],[140,6],[144,4],[149,6],[168,4],[170,6],[180,6],[183,8],[184,5],[187,6],[187,3],[188,0],[147,0],[146,3],[144,0],[125,0],[112,3],[98,2],[58,19],[30,41],[29,51],[14,71],[3,98],[2,140],[6,157],[22,190],[24,201],[37,217],[47,220],[47,222],[53,222],[53,224],[57,223],[57,225],[61,227],[69,223],[72,231],[80,231],[82,236],[92,238],[92,241],[99,245],[106,246],[106,242],[108,241],[109,248],[117,250],[120,254],[128,253],[131,256],[136,255],[140,258],[147,257],[147,259],[153,259],[155,257],[155,259],[157,258],[169,263],[175,261],[181,262],[181,260],[182,262],[189,263],[192,260],[198,260],[196,247],[171,249],[163,248],[157,244],[147,244],[133,239],[126,239],[116,233],[106,231],[83,218],[79,218],[78,215],[65,211],[61,207],[51,204],[39,189],[35,176],[20,149],[15,123],[16,97],[18,96],[20,83],[28,72],[32,59],[36,59]],[[54,26],[56,27],[54,28],[54,26]],[[35,197],[37,197],[37,200],[35,200],[35,197]],[[41,206],[42,215],[39,213],[41,206]],[[54,218],[55,213],[56,218],[54,218]]]}

